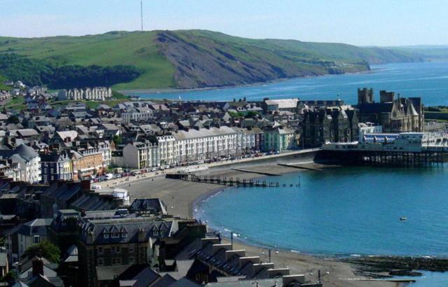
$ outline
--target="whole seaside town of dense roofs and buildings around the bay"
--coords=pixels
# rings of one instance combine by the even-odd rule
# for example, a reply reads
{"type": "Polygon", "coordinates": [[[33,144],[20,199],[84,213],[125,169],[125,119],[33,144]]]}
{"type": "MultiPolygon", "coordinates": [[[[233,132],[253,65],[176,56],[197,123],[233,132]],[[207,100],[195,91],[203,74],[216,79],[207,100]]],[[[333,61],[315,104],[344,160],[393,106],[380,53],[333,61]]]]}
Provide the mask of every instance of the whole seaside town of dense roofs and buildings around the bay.
{"type": "Polygon", "coordinates": [[[134,182],[316,149],[444,151],[448,143],[444,123],[426,123],[421,98],[384,90],[376,101],[372,89],[358,89],[356,105],[122,95],[111,106],[110,87],[5,84],[0,275],[12,286],[322,286],[320,274],[312,281],[306,270],[277,267],[270,250],[269,259],[247,255],[199,218],[172,214],[151,183],[135,197],[134,182]]]}

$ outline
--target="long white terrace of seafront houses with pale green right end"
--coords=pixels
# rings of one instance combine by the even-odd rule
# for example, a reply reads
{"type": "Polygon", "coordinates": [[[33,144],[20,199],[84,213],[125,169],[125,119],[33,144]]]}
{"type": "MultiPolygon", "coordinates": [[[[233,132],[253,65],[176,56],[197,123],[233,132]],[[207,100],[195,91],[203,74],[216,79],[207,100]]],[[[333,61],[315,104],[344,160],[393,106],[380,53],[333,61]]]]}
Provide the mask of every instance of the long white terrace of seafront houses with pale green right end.
{"type": "Polygon", "coordinates": [[[281,126],[264,130],[227,126],[179,130],[156,139],[127,144],[123,153],[112,157],[113,163],[143,169],[221,156],[239,158],[249,151],[283,152],[297,147],[295,132],[281,126]]]}

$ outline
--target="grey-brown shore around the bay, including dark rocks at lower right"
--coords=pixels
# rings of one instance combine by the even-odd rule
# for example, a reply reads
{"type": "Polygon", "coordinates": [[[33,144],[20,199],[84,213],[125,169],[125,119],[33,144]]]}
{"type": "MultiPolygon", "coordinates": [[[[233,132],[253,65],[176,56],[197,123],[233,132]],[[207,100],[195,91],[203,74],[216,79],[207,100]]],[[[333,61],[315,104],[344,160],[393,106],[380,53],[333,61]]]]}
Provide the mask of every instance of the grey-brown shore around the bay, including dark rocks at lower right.
{"type": "MultiPolygon", "coordinates": [[[[313,164],[312,165],[317,165],[313,164]]],[[[238,176],[240,179],[260,179],[261,174],[252,174],[238,172],[231,169],[232,163],[227,163],[221,166],[210,167],[209,169],[191,168],[191,172],[197,174],[204,174],[207,176],[221,175],[228,177],[238,176]]],[[[276,165],[275,162],[256,162],[248,169],[257,170],[258,172],[274,172],[277,174],[287,174],[289,172],[307,172],[305,169],[295,169],[292,167],[282,167],[276,165]]],[[[328,166],[325,166],[328,168],[328,166]]],[[[108,182],[106,182],[108,183],[108,182]]],[[[216,195],[221,191],[232,188],[230,186],[217,186],[211,183],[195,183],[191,181],[182,181],[179,179],[165,179],[165,174],[157,176],[150,176],[143,179],[136,179],[134,181],[125,182],[117,185],[117,187],[126,188],[130,191],[131,202],[134,198],[153,198],[159,197],[167,205],[169,214],[181,217],[193,217],[195,214],[193,210],[202,202],[207,200],[212,195],[216,195]],[[128,186],[130,184],[130,186],[128,186]]],[[[230,237],[223,237],[224,243],[230,243],[230,237]]],[[[256,242],[241,240],[234,237],[234,248],[246,249],[246,254],[249,256],[260,256],[263,261],[267,261],[267,253],[269,246],[257,244],[256,242]]],[[[325,274],[321,278],[324,286],[396,286],[390,281],[359,281],[358,279],[377,279],[390,278],[388,272],[384,269],[388,265],[381,265],[383,269],[375,269],[379,267],[370,266],[367,260],[380,260],[386,256],[348,256],[339,257],[329,254],[308,254],[300,251],[292,251],[290,248],[272,248],[272,262],[277,267],[289,267],[291,274],[305,274],[307,280],[317,281],[318,270],[325,274]],[[278,253],[276,252],[278,251],[278,253]],[[377,271],[376,271],[377,270],[377,271]],[[329,274],[326,274],[329,272],[329,274]],[[353,280],[356,279],[356,280],[353,280]]],[[[404,257],[387,256],[389,259],[395,261],[394,263],[409,262],[404,257]]],[[[387,258],[386,258],[387,259],[387,258]]],[[[409,259],[409,258],[408,258],[409,259]]],[[[435,259],[433,259],[435,260],[435,259]]],[[[433,260],[429,260],[433,262],[433,260]]],[[[390,263],[390,262],[388,262],[390,263]]],[[[392,270],[392,269],[391,269],[392,270]]],[[[395,270],[395,269],[394,269],[395,270]]],[[[418,279],[418,277],[415,277],[418,279]]]]}

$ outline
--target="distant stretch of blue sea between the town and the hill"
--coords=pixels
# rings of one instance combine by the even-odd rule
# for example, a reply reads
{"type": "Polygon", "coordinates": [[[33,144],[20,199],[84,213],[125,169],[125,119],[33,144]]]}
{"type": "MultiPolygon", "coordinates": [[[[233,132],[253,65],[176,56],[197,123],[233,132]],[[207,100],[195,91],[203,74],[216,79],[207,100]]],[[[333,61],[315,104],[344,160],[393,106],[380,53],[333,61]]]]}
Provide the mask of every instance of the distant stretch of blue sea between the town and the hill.
{"type": "MultiPolygon", "coordinates": [[[[316,78],[298,78],[279,83],[235,87],[221,90],[167,93],[132,93],[142,98],[224,101],[246,97],[259,100],[299,97],[300,99],[336,99],[356,104],[358,87],[393,90],[405,97],[421,96],[426,106],[448,105],[448,62],[400,63],[372,66],[371,73],[356,73],[316,78]]],[[[379,96],[377,96],[377,101],[379,96]]]]}

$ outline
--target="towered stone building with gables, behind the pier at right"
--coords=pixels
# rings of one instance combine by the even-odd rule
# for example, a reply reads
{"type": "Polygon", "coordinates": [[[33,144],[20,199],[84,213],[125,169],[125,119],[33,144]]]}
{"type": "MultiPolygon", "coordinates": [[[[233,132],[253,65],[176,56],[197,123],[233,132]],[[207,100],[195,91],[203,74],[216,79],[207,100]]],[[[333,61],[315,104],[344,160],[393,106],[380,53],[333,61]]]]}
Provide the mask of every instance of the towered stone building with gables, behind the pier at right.
{"type": "Polygon", "coordinates": [[[379,91],[374,102],[372,89],[358,89],[358,118],[360,123],[381,125],[383,132],[423,132],[425,116],[420,97],[395,99],[394,92],[379,91]]]}

